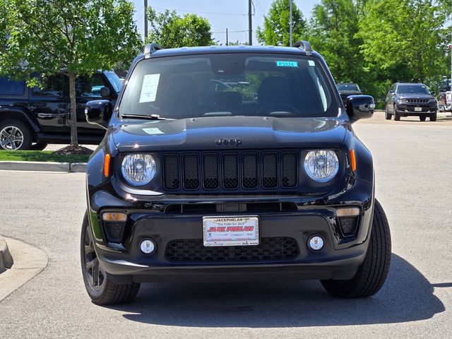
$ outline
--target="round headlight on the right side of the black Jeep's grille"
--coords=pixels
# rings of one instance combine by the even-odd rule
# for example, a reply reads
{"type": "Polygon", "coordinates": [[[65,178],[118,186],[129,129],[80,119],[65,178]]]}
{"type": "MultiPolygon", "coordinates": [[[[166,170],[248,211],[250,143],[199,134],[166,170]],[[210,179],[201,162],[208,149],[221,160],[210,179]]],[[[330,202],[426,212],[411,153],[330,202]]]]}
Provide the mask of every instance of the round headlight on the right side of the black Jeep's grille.
{"type": "Polygon", "coordinates": [[[338,174],[338,156],[333,150],[312,150],[304,158],[304,170],[316,182],[328,182],[338,174]]]}

